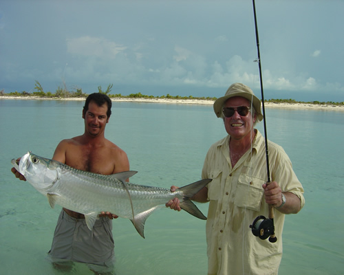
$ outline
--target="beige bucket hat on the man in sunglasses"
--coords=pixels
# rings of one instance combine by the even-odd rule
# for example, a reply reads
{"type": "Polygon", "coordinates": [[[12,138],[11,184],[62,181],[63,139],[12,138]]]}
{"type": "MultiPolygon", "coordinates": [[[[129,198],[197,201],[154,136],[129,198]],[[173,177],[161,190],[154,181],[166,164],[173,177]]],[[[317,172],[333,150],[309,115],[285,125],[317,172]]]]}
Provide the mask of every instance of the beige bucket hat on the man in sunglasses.
{"type": "Polygon", "coordinates": [[[253,91],[246,85],[241,83],[234,83],[230,85],[228,90],[226,91],[226,94],[222,96],[222,98],[217,98],[217,100],[214,102],[214,111],[217,115],[217,118],[224,118],[224,115],[222,113],[222,108],[224,107],[224,103],[229,98],[234,98],[235,96],[241,96],[241,98],[246,98],[250,102],[252,102],[253,107],[255,107],[256,115],[259,121],[263,119],[263,115],[261,114],[261,101],[255,94],[253,94],[253,91]]]}

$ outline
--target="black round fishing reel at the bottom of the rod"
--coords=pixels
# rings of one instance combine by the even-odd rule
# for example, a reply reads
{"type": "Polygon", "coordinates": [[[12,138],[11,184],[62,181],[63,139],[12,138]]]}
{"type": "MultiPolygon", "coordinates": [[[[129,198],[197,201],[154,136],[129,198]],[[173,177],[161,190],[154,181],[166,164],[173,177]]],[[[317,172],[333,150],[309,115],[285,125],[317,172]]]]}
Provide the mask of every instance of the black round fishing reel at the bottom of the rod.
{"type": "Polygon", "coordinates": [[[255,221],[253,221],[252,225],[250,225],[250,228],[252,228],[252,234],[258,236],[261,240],[266,240],[268,236],[270,236],[270,243],[275,243],[277,241],[273,219],[258,216],[255,221]]]}

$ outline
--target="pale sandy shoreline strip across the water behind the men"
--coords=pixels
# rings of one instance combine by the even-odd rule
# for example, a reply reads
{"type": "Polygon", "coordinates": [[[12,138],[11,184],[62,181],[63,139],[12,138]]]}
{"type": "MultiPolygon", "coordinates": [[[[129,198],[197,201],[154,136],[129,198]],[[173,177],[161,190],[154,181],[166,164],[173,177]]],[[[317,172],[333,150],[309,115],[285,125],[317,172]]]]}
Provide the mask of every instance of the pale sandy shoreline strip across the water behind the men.
{"type": "MultiPolygon", "coordinates": [[[[21,96],[0,96],[0,100],[67,100],[67,101],[83,101],[85,98],[39,98],[39,97],[21,97],[21,96]]],[[[112,102],[137,102],[137,103],[160,103],[160,104],[200,104],[213,105],[214,100],[200,99],[173,99],[173,98],[111,98],[112,102]]],[[[331,104],[311,104],[311,103],[272,103],[265,102],[266,108],[277,109],[310,109],[323,111],[343,111],[343,105],[331,104]]]]}

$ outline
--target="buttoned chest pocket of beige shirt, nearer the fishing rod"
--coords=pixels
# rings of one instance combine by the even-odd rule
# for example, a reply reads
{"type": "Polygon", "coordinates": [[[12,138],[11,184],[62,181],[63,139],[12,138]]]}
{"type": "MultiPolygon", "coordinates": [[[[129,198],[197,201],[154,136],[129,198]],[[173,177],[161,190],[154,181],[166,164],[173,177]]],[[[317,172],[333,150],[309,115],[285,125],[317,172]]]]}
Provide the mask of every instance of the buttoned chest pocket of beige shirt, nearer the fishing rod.
{"type": "Polygon", "coordinates": [[[264,190],[261,187],[265,183],[262,179],[257,179],[248,175],[240,175],[237,191],[235,192],[234,203],[241,208],[259,211],[264,190]]]}

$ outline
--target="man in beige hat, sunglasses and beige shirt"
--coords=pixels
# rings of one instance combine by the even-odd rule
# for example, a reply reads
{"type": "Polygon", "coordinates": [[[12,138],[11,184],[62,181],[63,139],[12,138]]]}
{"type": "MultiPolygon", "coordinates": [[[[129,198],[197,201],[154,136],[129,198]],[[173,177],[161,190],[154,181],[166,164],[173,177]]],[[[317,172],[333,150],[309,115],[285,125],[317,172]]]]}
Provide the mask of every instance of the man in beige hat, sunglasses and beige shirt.
{"type": "MultiPolygon", "coordinates": [[[[228,135],[209,148],[202,178],[213,180],[193,197],[209,202],[208,274],[277,274],[285,214],[301,210],[303,187],[286,152],[270,141],[271,182],[266,184],[265,140],[254,129],[263,119],[261,102],[249,87],[234,83],[213,107],[228,135]],[[276,243],[257,238],[249,227],[258,216],[268,217],[268,204],[275,208],[276,243]]],[[[178,199],[166,206],[180,210],[178,199]]]]}

